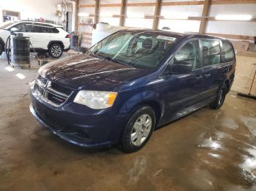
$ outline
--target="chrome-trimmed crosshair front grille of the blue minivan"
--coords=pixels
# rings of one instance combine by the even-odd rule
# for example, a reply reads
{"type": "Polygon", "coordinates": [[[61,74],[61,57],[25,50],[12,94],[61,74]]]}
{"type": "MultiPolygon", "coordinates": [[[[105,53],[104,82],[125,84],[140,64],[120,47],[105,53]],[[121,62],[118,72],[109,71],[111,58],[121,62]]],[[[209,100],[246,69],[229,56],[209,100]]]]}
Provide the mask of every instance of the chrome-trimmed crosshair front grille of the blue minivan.
{"type": "Polygon", "coordinates": [[[37,78],[36,84],[34,85],[34,91],[37,92],[37,95],[41,96],[42,100],[53,106],[64,104],[72,93],[72,89],[69,87],[64,87],[56,82],[51,82],[42,76],[37,78]]]}

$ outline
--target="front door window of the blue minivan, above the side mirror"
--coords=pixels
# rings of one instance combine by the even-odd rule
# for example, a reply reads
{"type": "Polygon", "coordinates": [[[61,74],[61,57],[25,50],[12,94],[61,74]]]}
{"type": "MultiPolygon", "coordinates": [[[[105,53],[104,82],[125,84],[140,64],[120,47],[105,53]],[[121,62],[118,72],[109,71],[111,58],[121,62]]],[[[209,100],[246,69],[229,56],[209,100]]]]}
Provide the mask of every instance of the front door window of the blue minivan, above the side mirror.
{"type": "Polygon", "coordinates": [[[173,64],[180,61],[187,62],[188,64],[192,65],[192,69],[200,68],[198,40],[187,42],[187,44],[176,52],[174,55],[173,64]]]}

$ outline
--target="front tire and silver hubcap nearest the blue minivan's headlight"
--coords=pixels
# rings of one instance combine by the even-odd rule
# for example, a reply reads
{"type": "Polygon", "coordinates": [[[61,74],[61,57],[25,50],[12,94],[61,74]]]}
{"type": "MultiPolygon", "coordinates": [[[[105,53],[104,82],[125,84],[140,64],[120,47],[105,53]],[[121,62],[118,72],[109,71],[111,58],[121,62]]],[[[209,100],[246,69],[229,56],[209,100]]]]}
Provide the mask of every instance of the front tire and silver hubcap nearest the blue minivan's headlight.
{"type": "Polygon", "coordinates": [[[150,106],[140,107],[129,118],[121,136],[121,149],[131,153],[140,150],[151,137],[156,125],[154,110],[150,106]]]}

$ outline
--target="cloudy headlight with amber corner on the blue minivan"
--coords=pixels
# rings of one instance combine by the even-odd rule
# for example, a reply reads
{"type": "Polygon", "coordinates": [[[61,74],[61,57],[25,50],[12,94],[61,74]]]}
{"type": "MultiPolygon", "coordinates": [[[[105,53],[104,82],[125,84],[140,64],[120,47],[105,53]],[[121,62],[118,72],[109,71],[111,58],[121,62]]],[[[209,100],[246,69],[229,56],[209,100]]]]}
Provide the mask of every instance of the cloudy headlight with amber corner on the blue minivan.
{"type": "Polygon", "coordinates": [[[74,102],[90,107],[91,109],[106,109],[113,106],[116,92],[80,90],[74,102]]]}

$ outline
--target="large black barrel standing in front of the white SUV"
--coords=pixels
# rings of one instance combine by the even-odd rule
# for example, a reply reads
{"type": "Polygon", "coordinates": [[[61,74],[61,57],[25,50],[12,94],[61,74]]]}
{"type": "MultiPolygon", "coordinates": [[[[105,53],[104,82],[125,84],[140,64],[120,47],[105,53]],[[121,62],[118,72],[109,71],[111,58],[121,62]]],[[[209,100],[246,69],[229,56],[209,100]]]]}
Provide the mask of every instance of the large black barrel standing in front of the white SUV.
{"type": "Polygon", "coordinates": [[[13,66],[30,65],[30,42],[28,37],[12,36],[11,52],[13,66]]]}

